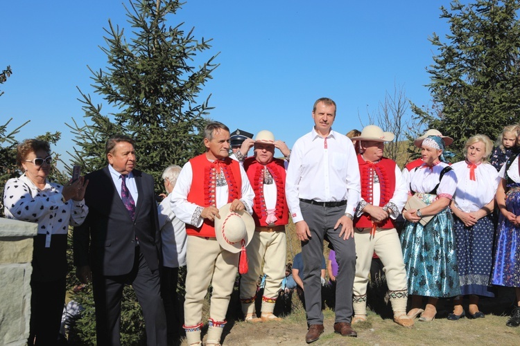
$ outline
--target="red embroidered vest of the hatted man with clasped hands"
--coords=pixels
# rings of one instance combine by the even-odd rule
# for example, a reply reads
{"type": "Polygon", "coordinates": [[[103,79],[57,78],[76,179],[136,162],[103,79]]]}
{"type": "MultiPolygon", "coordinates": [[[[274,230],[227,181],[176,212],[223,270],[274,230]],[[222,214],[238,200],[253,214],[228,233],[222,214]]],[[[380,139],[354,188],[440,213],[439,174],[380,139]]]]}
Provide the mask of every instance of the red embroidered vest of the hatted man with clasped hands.
{"type": "MultiPolygon", "coordinates": [[[[363,160],[361,154],[358,155],[359,173],[361,174],[361,197],[374,206],[385,206],[392,199],[395,192],[395,161],[390,158],[381,158],[377,163],[368,163],[363,160]],[[379,176],[379,201],[374,201],[374,174],[379,176]]],[[[379,228],[395,228],[395,221],[392,218],[385,220],[383,224],[377,225],[379,228]]],[[[370,228],[372,221],[366,213],[354,221],[356,228],[370,228]]]]}

